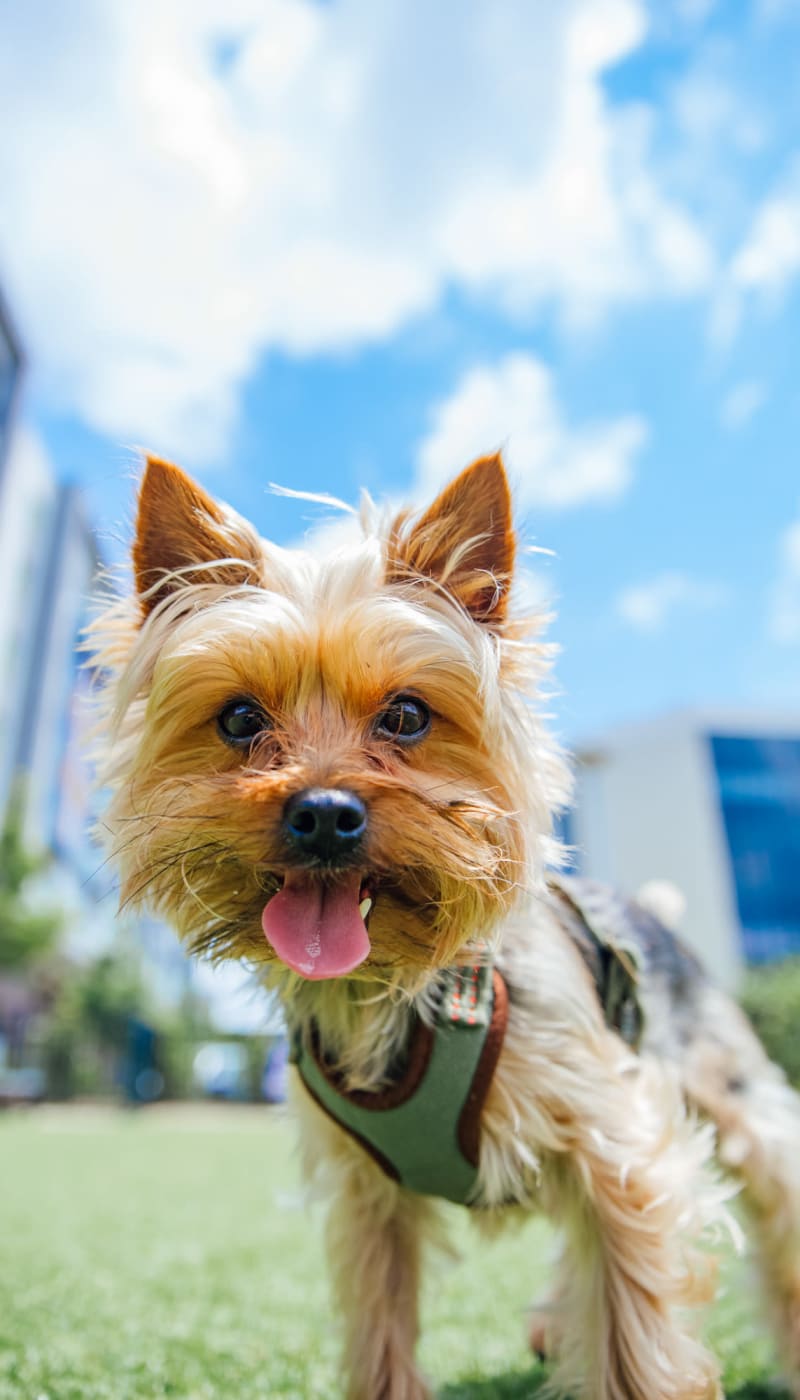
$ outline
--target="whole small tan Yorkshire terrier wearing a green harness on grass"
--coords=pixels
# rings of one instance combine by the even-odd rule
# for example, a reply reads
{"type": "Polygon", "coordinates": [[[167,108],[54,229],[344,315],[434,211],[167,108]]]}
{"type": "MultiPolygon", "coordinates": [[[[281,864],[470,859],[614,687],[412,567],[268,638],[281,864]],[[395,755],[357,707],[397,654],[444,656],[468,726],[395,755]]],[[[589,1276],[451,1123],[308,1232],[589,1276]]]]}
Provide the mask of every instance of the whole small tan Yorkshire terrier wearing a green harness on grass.
{"type": "Polygon", "coordinates": [[[282,998],[352,1400],[423,1400],[437,1197],[563,1253],[531,1341],[591,1400],[720,1396],[696,1340],[750,1208],[800,1378],[800,1109],[737,1007],[642,906],[558,874],[569,770],[514,606],[499,455],[325,557],[149,458],[135,588],[94,623],[125,904],[282,998]]]}

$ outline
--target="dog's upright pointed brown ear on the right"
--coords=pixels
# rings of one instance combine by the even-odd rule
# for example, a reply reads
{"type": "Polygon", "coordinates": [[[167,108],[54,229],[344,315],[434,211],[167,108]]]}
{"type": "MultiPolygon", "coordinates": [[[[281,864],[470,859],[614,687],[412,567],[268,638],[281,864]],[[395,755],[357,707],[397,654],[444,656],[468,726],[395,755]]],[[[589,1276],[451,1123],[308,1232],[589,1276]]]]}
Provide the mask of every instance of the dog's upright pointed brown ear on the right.
{"type": "Polygon", "coordinates": [[[392,580],[436,580],[486,626],[509,609],[514,571],[511,493],[499,452],[472,462],[418,519],[401,517],[389,546],[392,580]]]}

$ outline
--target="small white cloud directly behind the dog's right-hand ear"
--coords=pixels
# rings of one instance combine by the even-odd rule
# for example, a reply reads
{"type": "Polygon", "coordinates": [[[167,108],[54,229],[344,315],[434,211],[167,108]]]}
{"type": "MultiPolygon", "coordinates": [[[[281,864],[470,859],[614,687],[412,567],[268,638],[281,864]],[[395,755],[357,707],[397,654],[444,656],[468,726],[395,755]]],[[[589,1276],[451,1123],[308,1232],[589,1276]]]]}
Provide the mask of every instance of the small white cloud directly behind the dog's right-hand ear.
{"type": "Polygon", "coordinates": [[[635,414],[570,427],[549,370],[528,354],[469,370],[432,419],[418,454],[422,498],[472,458],[502,447],[523,505],[614,500],[630,484],[647,437],[644,420],[635,414]]]}

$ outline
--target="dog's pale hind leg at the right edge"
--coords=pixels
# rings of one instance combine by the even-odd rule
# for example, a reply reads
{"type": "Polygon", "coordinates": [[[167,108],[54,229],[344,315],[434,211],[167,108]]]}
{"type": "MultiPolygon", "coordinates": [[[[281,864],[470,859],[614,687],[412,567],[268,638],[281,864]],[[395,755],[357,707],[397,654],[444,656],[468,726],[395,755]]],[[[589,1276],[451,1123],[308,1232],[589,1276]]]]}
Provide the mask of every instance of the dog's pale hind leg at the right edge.
{"type": "Polygon", "coordinates": [[[766,1299],[800,1394],[800,1098],[716,988],[705,995],[685,1078],[689,1098],[716,1124],[720,1161],[743,1183],[766,1299]]]}

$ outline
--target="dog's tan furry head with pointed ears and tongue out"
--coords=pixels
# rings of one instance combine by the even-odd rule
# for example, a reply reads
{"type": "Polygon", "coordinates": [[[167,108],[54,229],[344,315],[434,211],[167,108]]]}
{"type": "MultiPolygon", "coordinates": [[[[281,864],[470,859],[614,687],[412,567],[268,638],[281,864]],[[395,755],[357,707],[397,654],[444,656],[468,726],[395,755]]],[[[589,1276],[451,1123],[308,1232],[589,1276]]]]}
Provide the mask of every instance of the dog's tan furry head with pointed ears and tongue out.
{"type": "Polygon", "coordinates": [[[136,596],[95,626],[122,899],[304,979],[420,972],[490,937],[562,783],[511,620],[499,456],[318,557],[149,459],[136,596]]]}

